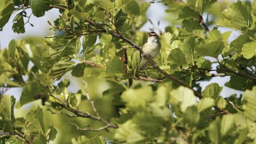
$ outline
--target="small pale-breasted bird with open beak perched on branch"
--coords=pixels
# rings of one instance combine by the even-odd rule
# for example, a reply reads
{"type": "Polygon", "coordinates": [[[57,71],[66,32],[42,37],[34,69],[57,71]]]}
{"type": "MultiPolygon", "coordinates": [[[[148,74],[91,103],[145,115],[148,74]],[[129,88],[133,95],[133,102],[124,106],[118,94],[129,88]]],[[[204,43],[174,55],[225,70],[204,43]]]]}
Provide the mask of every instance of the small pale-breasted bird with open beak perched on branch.
{"type": "Polygon", "coordinates": [[[159,43],[158,34],[155,32],[148,33],[148,41],[142,45],[142,50],[147,55],[141,54],[141,63],[139,63],[139,70],[144,70],[148,65],[148,56],[150,58],[155,58],[161,49],[161,44],[159,43]]]}

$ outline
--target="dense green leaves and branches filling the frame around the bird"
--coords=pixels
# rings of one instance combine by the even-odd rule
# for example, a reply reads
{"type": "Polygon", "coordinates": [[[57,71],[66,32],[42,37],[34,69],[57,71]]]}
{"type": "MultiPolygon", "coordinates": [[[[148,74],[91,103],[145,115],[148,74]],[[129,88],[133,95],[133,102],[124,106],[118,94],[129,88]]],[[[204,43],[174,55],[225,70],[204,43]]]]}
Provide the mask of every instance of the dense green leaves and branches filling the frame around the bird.
{"type": "Polygon", "coordinates": [[[161,51],[146,71],[138,71],[139,47],[148,37],[139,29],[150,19],[149,2],[2,0],[1,31],[11,15],[15,33],[33,26],[31,16],[44,16],[50,9],[59,9],[60,15],[48,22],[55,35],[11,40],[0,51],[0,143],[49,143],[55,138],[60,143],[255,143],[256,2],[154,3],[168,7],[166,16],[176,16],[176,27],[154,29],[161,51]],[[231,31],[221,33],[218,27],[241,34],[228,43],[231,31]],[[65,74],[79,77],[78,92],[67,90],[65,74]],[[245,93],[222,95],[224,99],[218,83],[200,87],[200,81],[214,76],[230,76],[225,86],[245,93]],[[85,79],[90,81],[82,83],[85,79]],[[108,105],[90,97],[87,87],[99,80],[109,86],[98,97],[110,100],[108,105]],[[22,88],[19,101],[4,94],[13,87],[22,88]],[[14,115],[15,108],[38,99],[42,104],[26,117],[14,115]],[[114,112],[106,115],[107,109],[114,112]],[[46,112],[52,121],[44,118],[46,112]]]}

